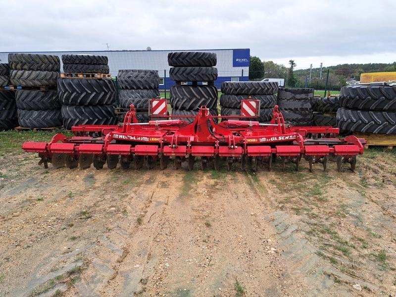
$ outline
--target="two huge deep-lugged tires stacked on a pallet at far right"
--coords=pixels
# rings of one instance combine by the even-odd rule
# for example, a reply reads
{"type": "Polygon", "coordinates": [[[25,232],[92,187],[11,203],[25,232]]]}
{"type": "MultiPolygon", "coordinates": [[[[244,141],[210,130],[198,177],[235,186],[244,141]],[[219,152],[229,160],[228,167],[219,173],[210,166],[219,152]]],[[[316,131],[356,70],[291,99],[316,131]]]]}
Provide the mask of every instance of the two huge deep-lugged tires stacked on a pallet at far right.
{"type": "Polygon", "coordinates": [[[337,126],[348,132],[396,134],[396,86],[343,87],[337,126]]]}

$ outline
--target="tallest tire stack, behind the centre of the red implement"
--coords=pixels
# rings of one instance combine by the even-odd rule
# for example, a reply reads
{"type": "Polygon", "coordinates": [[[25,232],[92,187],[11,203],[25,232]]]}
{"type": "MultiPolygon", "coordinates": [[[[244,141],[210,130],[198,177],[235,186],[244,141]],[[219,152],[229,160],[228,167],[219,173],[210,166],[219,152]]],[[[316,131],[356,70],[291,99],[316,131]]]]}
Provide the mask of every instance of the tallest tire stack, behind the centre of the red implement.
{"type": "MultiPolygon", "coordinates": [[[[172,115],[197,115],[201,106],[209,108],[212,115],[218,115],[217,88],[217,56],[206,51],[176,51],[168,53],[170,79],[176,82],[170,88],[170,105],[172,115]],[[182,82],[191,84],[182,85],[182,82]],[[206,82],[199,84],[198,82],[206,82]]],[[[180,118],[193,122],[194,118],[180,118]]]]}

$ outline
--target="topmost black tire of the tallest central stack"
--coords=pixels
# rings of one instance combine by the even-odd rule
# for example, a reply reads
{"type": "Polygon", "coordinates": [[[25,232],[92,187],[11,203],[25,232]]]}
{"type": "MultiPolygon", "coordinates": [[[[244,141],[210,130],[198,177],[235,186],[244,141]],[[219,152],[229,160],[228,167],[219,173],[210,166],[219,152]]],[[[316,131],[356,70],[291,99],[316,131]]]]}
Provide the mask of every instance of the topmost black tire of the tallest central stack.
{"type": "Polygon", "coordinates": [[[174,67],[211,67],[217,63],[214,52],[207,51],[175,51],[168,53],[168,64],[174,67]]]}

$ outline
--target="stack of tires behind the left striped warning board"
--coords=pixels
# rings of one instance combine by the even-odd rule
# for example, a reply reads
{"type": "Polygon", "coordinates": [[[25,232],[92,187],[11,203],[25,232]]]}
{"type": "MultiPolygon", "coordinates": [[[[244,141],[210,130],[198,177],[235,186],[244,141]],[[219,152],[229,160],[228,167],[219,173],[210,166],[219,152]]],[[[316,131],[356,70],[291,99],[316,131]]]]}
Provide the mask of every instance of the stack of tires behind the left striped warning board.
{"type": "MultiPolygon", "coordinates": [[[[133,104],[138,113],[136,118],[140,123],[150,120],[148,105],[150,99],[159,97],[159,76],[157,70],[123,69],[118,71],[118,93],[121,108],[130,108],[133,104]],[[139,110],[140,109],[140,110],[139,110]]],[[[119,119],[120,121],[123,118],[119,119]]]]}

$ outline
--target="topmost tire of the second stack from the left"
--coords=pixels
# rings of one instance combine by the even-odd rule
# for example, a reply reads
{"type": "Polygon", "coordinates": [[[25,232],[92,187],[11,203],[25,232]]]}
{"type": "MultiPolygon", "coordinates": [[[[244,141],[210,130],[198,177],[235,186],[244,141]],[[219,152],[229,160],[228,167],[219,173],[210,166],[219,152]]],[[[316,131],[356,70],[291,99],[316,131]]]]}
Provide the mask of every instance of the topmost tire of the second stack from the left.
{"type": "Polygon", "coordinates": [[[33,53],[9,53],[8,63],[12,70],[59,71],[57,55],[33,53]]]}

